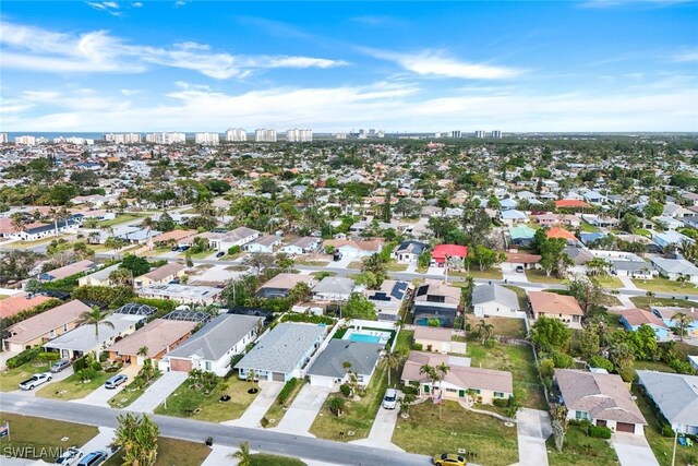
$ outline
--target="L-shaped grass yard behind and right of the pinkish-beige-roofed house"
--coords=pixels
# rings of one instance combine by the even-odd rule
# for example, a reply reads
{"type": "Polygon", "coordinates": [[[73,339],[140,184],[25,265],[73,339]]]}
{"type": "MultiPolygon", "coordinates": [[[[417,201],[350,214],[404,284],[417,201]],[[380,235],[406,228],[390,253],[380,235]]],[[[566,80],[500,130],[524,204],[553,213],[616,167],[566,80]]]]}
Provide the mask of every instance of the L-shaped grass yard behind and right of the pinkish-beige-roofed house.
{"type": "Polygon", "coordinates": [[[470,366],[512,372],[514,395],[521,406],[547,409],[531,347],[528,345],[496,344],[494,348],[488,348],[480,345],[473,333],[470,335],[476,338],[468,343],[466,356],[471,358],[470,366]]]}

